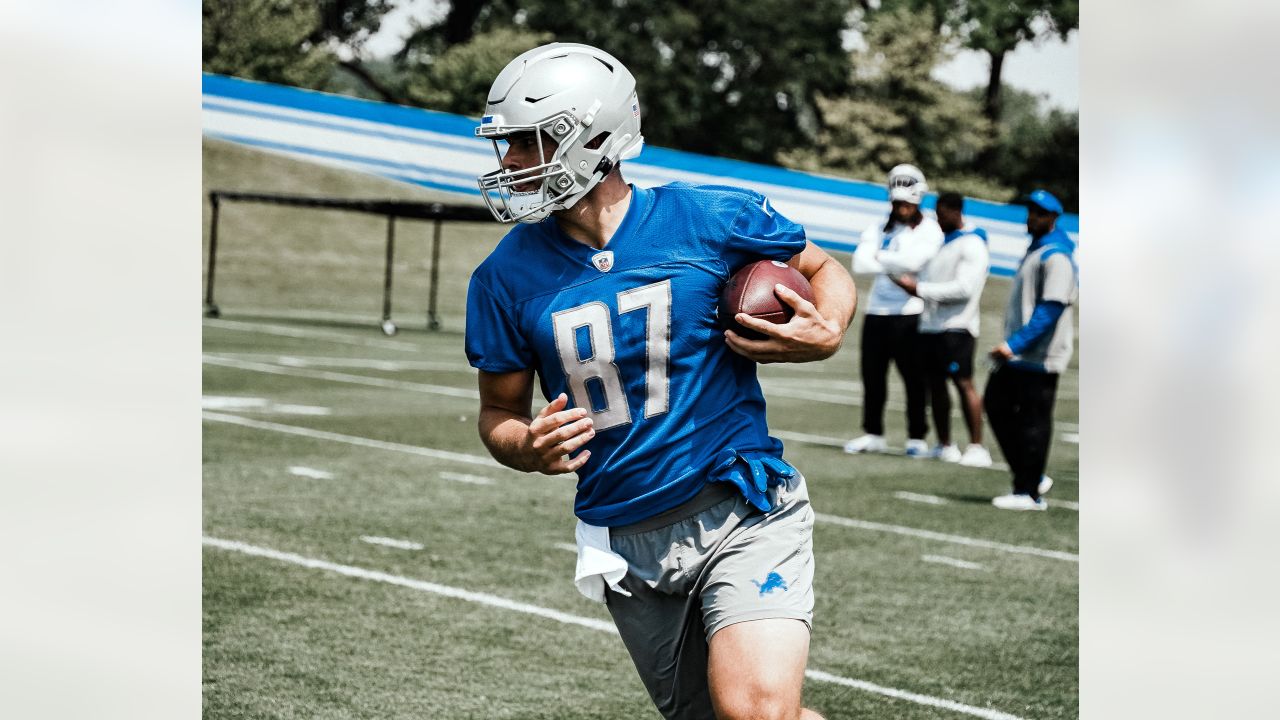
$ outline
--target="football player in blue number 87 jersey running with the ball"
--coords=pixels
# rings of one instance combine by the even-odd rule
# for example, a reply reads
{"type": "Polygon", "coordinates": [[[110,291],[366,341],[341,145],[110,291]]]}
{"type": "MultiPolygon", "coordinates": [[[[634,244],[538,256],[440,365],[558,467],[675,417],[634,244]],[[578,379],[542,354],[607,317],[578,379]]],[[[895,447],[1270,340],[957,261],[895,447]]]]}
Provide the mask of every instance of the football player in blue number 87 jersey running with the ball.
{"type": "Polygon", "coordinates": [[[467,293],[480,437],[511,468],[577,473],[575,580],[608,605],[664,716],[796,717],[813,510],[755,364],[835,354],[852,281],[756,192],[628,184],[640,117],[635,78],[586,45],[536,47],[494,81],[476,135],[499,167],[479,183],[518,224],[467,293]],[[815,301],[780,286],[795,316],[739,314],[767,336],[746,340],[714,309],[762,259],[795,266],[815,301]],[[536,411],[535,377],[550,398],[536,411]]]}

